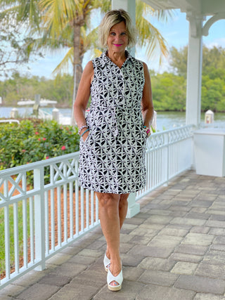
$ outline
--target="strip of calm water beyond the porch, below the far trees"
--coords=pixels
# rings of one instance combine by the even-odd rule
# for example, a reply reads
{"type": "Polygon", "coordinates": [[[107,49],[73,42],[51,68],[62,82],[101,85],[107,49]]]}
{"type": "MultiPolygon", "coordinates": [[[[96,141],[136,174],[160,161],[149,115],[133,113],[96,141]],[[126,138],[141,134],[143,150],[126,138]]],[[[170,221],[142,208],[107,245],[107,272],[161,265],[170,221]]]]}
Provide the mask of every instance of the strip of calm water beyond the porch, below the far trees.
{"type": "MultiPolygon", "coordinates": [[[[0,106],[0,118],[6,117],[10,119],[10,113],[13,107],[2,107],[0,106]]],[[[43,108],[41,108],[43,109],[43,108]]],[[[51,113],[51,107],[45,107],[51,113]]],[[[60,115],[68,121],[71,117],[71,108],[60,108],[60,115]]],[[[32,113],[32,107],[18,107],[18,113],[20,117],[29,117],[32,113]]],[[[201,114],[201,124],[204,125],[205,114],[201,114]]],[[[162,131],[165,129],[173,129],[179,126],[184,126],[186,122],[185,112],[158,112],[157,113],[157,131],[162,131]]],[[[214,126],[225,127],[225,114],[222,112],[214,114],[214,126]]]]}

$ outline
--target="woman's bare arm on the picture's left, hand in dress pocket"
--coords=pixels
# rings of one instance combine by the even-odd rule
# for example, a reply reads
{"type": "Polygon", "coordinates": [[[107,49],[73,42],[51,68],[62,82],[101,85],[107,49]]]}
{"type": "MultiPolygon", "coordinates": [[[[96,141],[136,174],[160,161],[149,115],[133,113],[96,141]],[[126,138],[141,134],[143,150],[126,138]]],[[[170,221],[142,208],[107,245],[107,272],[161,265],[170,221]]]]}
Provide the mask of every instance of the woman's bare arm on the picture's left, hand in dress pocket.
{"type": "MultiPolygon", "coordinates": [[[[75,114],[75,120],[77,122],[78,128],[82,128],[82,126],[86,126],[86,119],[85,119],[85,111],[86,111],[86,105],[89,102],[90,97],[90,89],[91,89],[91,81],[94,77],[94,68],[91,61],[86,64],[86,67],[84,67],[84,71],[82,73],[82,78],[79,82],[79,87],[77,91],[77,97],[74,104],[74,114],[75,114]]],[[[86,127],[84,127],[80,134],[82,134],[84,131],[86,131],[86,127]]],[[[86,140],[86,137],[89,135],[89,132],[87,131],[84,133],[83,139],[86,140]]]]}

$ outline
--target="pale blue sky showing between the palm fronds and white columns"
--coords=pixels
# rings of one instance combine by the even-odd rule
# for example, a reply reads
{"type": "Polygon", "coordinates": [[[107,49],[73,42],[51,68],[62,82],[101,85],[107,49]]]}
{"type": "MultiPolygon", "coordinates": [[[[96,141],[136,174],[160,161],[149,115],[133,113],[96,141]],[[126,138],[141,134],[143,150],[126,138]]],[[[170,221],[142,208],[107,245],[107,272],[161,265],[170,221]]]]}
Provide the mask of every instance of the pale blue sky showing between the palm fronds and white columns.
{"type": "MultiPolygon", "coordinates": [[[[99,20],[100,22],[101,20],[99,20]]],[[[156,19],[150,19],[150,22],[160,31],[162,37],[167,41],[167,48],[174,46],[175,48],[182,48],[188,44],[188,25],[189,22],[186,20],[186,13],[181,13],[179,10],[176,10],[174,17],[170,19],[167,23],[158,22],[156,19]]],[[[206,22],[206,21],[205,21],[206,22]]],[[[208,48],[213,46],[222,46],[225,48],[225,20],[219,20],[214,22],[212,27],[210,27],[209,35],[203,37],[203,44],[208,48]]],[[[34,63],[30,63],[29,71],[25,71],[28,74],[37,75],[39,77],[44,76],[46,78],[51,78],[52,72],[55,67],[60,63],[60,60],[63,59],[66,51],[61,53],[46,53],[45,58],[38,59],[34,63]]],[[[169,70],[168,58],[162,61],[162,64],[159,65],[159,58],[156,55],[151,60],[148,60],[145,55],[145,49],[137,48],[136,49],[136,58],[143,60],[147,63],[148,67],[151,70],[155,70],[156,73],[162,73],[169,70]]],[[[83,65],[91,59],[89,53],[86,53],[84,56],[83,65]]]]}

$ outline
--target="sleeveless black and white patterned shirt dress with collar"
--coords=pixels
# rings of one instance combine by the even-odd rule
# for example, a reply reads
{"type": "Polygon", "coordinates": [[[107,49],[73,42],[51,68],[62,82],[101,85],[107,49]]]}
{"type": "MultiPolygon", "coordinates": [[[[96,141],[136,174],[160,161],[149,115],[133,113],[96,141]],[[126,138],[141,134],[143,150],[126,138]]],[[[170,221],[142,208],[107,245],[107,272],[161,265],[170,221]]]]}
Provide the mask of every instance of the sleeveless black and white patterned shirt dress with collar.
{"type": "Polygon", "coordinates": [[[90,131],[80,139],[79,184],[99,193],[131,193],[146,184],[143,63],[126,56],[121,69],[106,52],[92,60],[90,131]]]}

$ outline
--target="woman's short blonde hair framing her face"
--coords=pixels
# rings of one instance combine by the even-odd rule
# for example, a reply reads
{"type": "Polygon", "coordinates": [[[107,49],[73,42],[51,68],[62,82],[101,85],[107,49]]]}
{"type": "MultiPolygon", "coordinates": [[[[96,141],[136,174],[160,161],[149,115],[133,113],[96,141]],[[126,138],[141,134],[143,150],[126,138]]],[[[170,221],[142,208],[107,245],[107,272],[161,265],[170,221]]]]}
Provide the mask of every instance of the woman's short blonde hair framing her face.
{"type": "Polygon", "coordinates": [[[127,11],[123,9],[108,11],[105,14],[103,20],[98,29],[98,40],[101,47],[107,47],[108,35],[110,29],[120,23],[124,22],[126,25],[127,36],[128,36],[128,46],[134,46],[136,44],[136,30],[132,26],[131,18],[127,11]]]}

